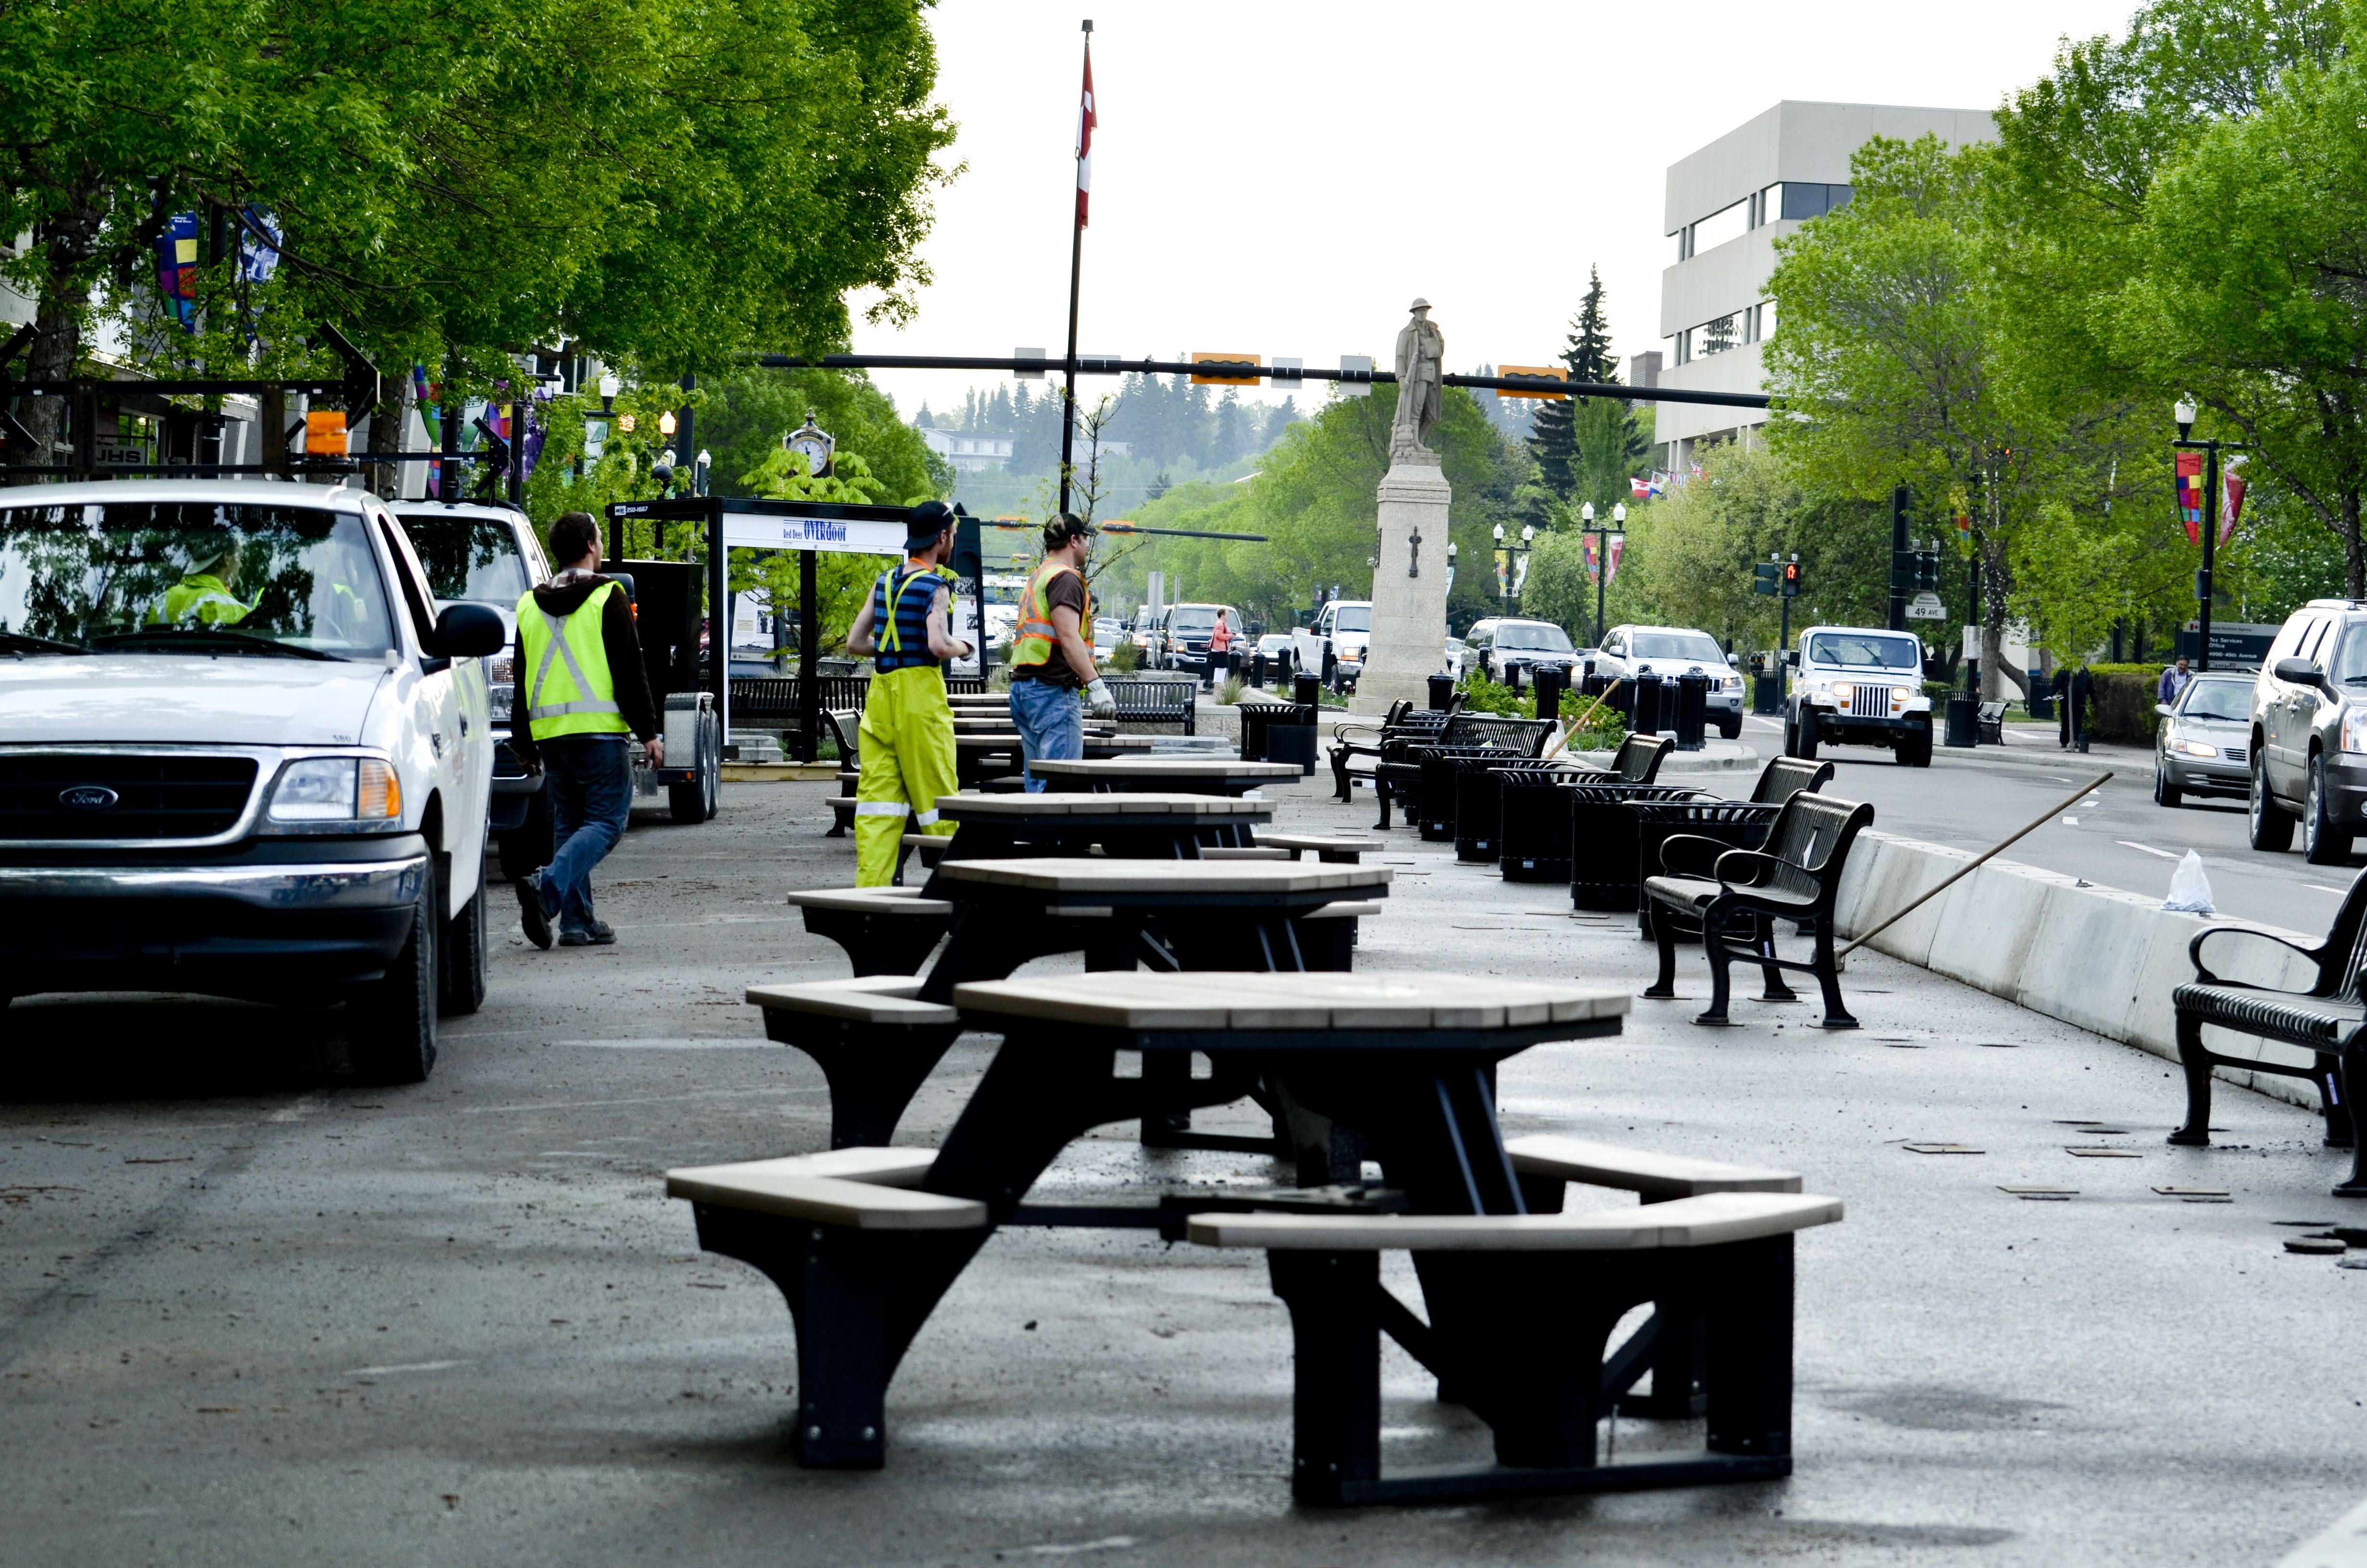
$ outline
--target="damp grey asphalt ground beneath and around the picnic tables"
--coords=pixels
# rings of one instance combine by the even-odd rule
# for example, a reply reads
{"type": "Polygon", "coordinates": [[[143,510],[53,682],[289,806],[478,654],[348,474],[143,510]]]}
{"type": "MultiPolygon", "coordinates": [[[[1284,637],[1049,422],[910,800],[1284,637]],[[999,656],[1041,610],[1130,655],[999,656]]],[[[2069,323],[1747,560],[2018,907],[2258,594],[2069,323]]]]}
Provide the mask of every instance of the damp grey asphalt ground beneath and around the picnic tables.
{"type": "MultiPolygon", "coordinates": [[[[1929,796],[1934,817],[2057,789],[1991,772],[1844,763],[1844,786],[1929,796]]],[[[1752,1000],[1735,1028],[1695,1028],[1685,950],[1690,1002],[1638,1002],[1621,1037],[1501,1073],[1510,1132],[1787,1165],[1846,1201],[1799,1244],[1789,1480],[1295,1509],[1264,1260],[1075,1229],[980,1253],[888,1393],[885,1471],[800,1471],[781,1296],[698,1251],[663,1172],[826,1142],[821,1075],[743,1002],[755,978],[847,971],[781,902],[852,879],[826,793],[727,786],[705,827],[637,827],[599,883],[615,947],[533,952],[497,902],[488,1004],[452,1021],[426,1085],[355,1085],[334,1011],[7,1009],[0,1561],[2216,1568],[2270,1563],[2367,1492],[2367,1272],[2282,1248],[2279,1222],[2346,1217],[2315,1118],[2223,1090],[2218,1144],[2168,1149],[2168,1063],[1877,952],[1849,966],[1860,1033],[1752,1000]],[[2227,1201],[2156,1191],[2178,1184],[2227,1201]]],[[[1285,796],[1285,827],[1373,815],[1285,796]]],[[[1557,888],[1444,848],[1399,829],[1378,850],[1397,883],[1359,969],[1643,988],[1626,917],[1572,917],[1557,888]]],[[[897,1142],[942,1139],[992,1049],[963,1037],[897,1142]]],[[[1257,1156],[1143,1151],[1120,1123],[1037,1196],[1271,1180],[1257,1156]]],[[[1387,1267],[1411,1289],[1404,1258],[1387,1267]]],[[[1602,1438],[1633,1459],[1702,1426],[1602,1438]]],[[[1389,1350],[1385,1450],[1489,1445],[1389,1350]]]]}

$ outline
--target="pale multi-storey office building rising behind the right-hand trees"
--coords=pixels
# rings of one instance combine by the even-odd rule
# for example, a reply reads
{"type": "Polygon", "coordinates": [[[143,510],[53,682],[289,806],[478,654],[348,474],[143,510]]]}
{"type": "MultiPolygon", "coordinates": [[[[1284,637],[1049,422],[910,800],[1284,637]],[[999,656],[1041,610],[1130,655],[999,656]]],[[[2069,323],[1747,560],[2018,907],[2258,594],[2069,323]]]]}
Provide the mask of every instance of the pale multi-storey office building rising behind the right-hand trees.
{"type": "MultiPolygon", "coordinates": [[[[1659,386],[1766,391],[1759,343],[1775,332],[1766,298],[1775,242],[1849,204],[1849,156],[1877,135],[1913,142],[1986,142],[1979,109],[1782,102],[1669,166],[1659,275],[1659,386]]],[[[1702,445],[1752,441],[1763,410],[1662,403],[1655,464],[1683,474],[1702,445]]]]}

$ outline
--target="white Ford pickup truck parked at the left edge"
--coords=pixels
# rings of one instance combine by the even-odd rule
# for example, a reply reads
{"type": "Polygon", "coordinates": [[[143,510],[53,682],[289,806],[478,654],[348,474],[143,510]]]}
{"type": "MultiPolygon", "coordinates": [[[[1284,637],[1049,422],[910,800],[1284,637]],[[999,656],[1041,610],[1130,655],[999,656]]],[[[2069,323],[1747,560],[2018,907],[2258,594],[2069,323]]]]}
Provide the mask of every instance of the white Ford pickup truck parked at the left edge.
{"type": "Polygon", "coordinates": [[[481,604],[367,490],[0,490],[0,1004],[350,1002],[376,1082],[485,995],[481,604]]]}

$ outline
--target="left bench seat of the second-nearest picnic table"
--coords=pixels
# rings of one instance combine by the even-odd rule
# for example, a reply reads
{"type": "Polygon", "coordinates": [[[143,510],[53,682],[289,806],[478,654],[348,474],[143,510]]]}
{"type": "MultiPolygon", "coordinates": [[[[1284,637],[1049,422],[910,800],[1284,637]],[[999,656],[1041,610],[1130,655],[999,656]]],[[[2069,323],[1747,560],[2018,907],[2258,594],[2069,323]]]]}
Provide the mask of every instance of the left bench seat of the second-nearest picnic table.
{"type": "Polygon", "coordinates": [[[961,1035],[961,1014],[921,1002],[921,978],[873,973],[750,985],[765,1037],[814,1059],[831,1085],[831,1149],[885,1144],[921,1082],[961,1035]]]}

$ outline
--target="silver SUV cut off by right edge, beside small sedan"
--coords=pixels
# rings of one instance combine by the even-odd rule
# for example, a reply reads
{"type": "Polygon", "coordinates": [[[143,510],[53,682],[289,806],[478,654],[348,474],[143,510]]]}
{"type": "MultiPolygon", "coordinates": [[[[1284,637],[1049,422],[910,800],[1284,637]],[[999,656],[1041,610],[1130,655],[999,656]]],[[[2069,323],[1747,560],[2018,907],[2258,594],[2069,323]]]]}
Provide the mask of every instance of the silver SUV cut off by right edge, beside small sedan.
{"type": "Polygon", "coordinates": [[[2367,599],[2310,599],[2251,689],[2251,848],[2343,865],[2367,831],[2367,599]],[[2291,815],[2287,815],[2291,812],[2291,815]]]}

